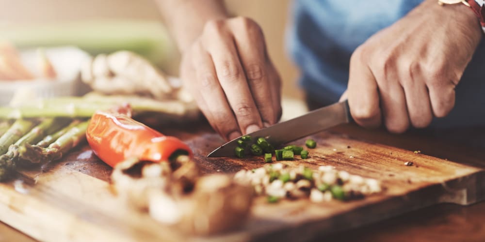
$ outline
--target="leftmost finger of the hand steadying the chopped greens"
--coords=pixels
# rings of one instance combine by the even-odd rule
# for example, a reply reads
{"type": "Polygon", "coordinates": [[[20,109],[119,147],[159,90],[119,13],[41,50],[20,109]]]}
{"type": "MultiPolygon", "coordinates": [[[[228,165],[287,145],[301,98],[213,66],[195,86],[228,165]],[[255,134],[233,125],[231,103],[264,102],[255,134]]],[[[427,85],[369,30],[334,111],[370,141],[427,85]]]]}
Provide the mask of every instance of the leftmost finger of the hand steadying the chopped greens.
{"type": "Polygon", "coordinates": [[[238,123],[227,103],[224,91],[217,81],[216,71],[212,59],[202,46],[197,45],[193,50],[192,60],[197,76],[197,92],[205,103],[206,117],[210,119],[221,136],[233,139],[241,136],[238,123]]]}

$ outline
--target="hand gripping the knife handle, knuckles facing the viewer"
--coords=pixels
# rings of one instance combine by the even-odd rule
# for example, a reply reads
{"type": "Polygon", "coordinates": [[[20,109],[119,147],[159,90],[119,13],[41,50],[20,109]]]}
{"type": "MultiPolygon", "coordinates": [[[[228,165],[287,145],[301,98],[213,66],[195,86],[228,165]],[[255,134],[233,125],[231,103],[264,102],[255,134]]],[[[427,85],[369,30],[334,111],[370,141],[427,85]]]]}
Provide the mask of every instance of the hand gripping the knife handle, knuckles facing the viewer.
{"type": "Polygon", "coordinates": [[[348,97],[354,120],[390,132],[423,128],[453,108],[455,86],[481,40],[464,4],[427,0],[353,53],[348,97]]]}

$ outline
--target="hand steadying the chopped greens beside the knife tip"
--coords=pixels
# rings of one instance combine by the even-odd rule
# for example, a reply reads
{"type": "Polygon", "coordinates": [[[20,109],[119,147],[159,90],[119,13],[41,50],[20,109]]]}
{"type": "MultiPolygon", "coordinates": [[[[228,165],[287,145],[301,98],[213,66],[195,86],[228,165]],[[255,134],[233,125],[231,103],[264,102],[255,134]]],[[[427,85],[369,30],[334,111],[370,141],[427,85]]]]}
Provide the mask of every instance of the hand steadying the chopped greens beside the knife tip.
{"type": "Polygon", "coordinates": [[[182,54],[180,76],[212,125],[233,139],[281,117],[281,82],[258,24],[211,20],[182,54]]]}

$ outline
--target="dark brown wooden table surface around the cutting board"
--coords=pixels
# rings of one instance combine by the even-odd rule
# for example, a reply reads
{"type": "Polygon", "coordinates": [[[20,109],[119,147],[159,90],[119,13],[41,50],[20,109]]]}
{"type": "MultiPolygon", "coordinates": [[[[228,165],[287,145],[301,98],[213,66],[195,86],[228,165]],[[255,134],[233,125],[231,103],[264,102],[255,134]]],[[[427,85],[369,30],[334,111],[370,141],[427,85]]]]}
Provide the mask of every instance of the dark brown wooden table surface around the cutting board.
{"type": "MultiPolygon", "coordinates": [[[[197,129],[207,130],[207,124],[190,125],[163,130],[167,135],[193,136],[197,129]]],[[[446,132],[436,138],[433,134],[409,132],[396,136],[384,131],[368,131],[346,125],[334,129],[371,142],[384,143],[407,150],[420,150],[425,154],[449,158],[457,162],[481,159],[485,164],[485,151],[474,145],[485,144],[485,128],[446,132]],[[453,140],[453,141],[450,141],[453,140]]],[[[351,231],[325,236],[326,241],[485,241],[485,202],[463,207],[441,204],[409,212],[351,231]]],[[[32,238],[0,222],[0,242],[30,242],[32,238]]]]}

